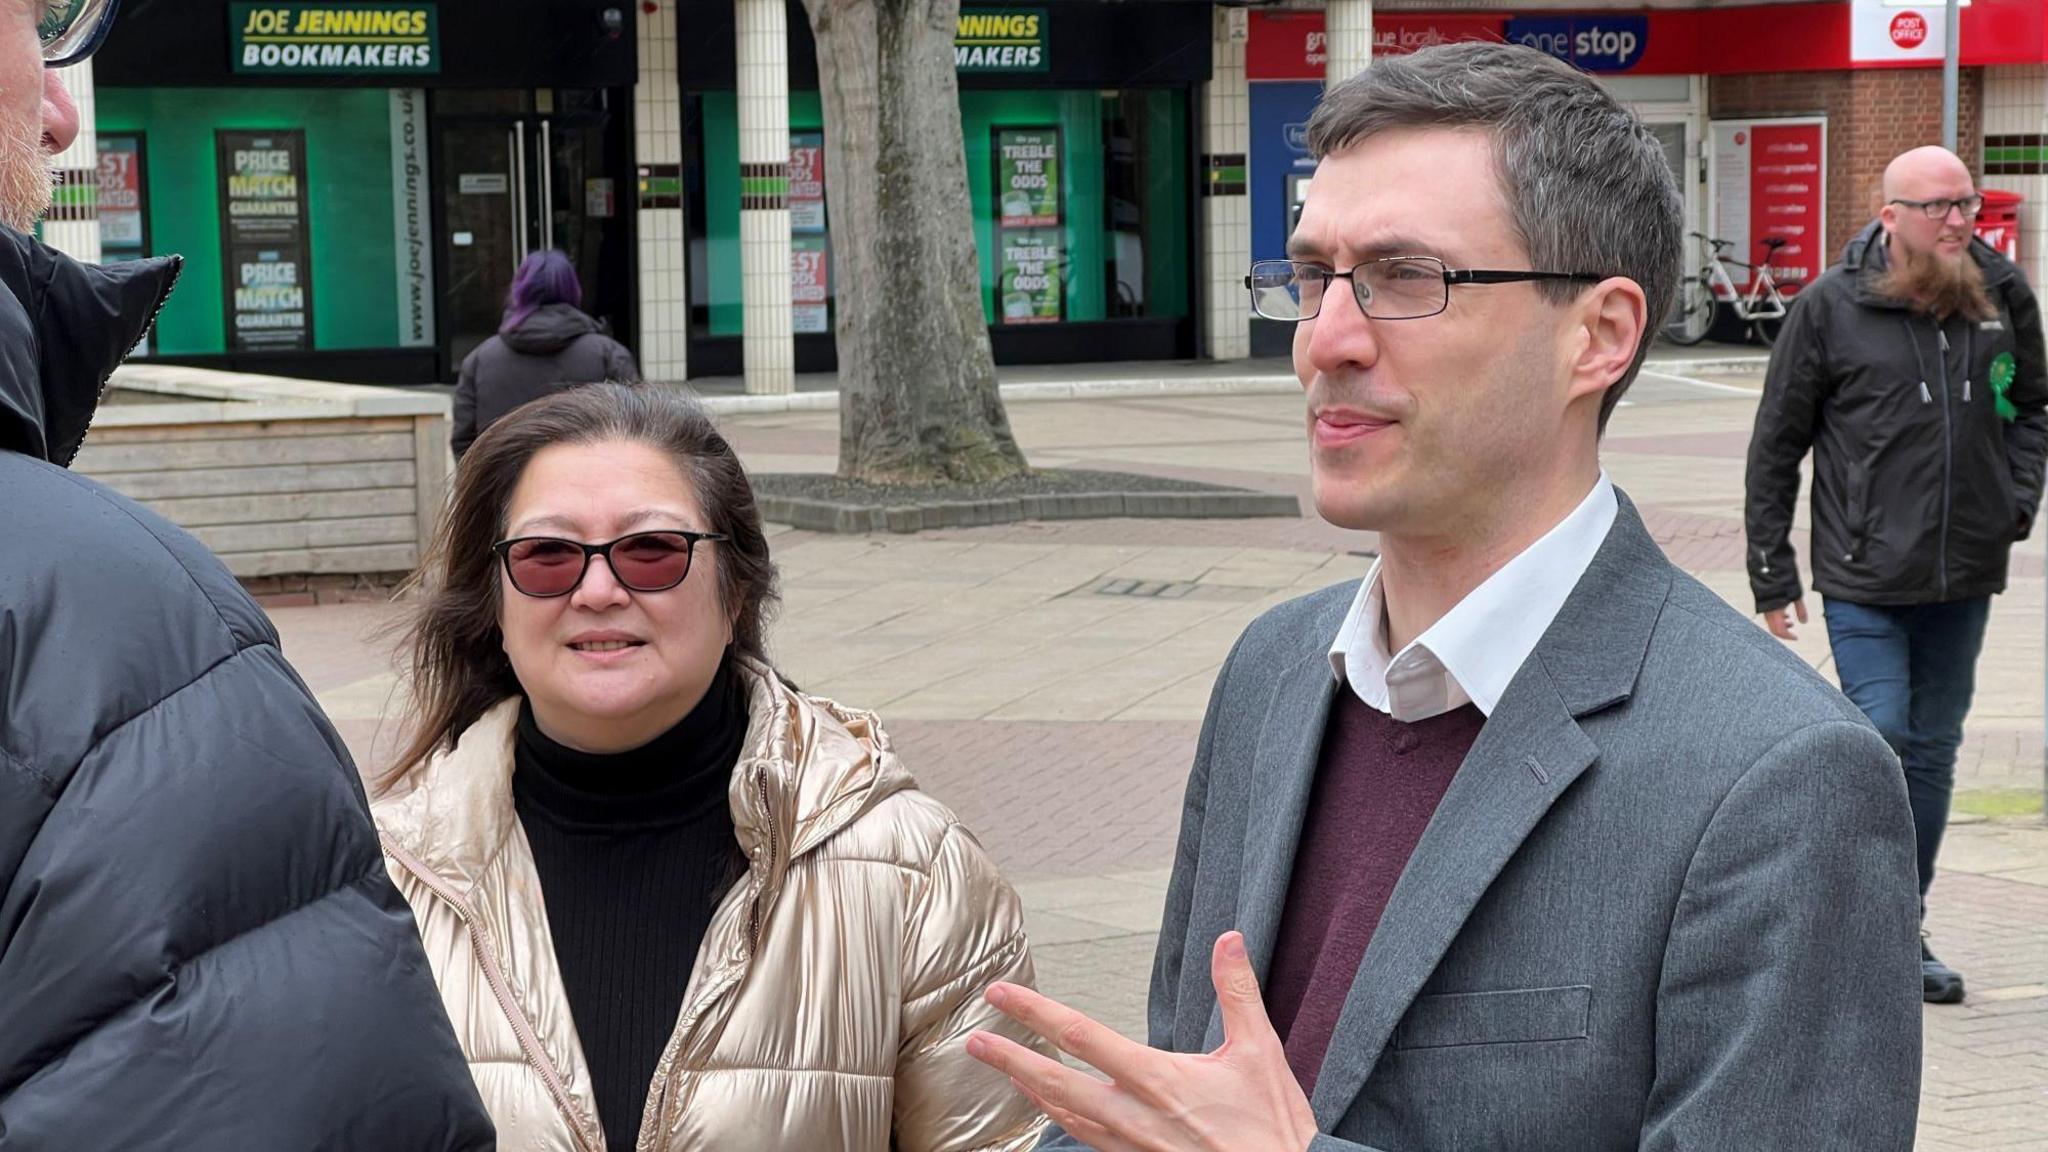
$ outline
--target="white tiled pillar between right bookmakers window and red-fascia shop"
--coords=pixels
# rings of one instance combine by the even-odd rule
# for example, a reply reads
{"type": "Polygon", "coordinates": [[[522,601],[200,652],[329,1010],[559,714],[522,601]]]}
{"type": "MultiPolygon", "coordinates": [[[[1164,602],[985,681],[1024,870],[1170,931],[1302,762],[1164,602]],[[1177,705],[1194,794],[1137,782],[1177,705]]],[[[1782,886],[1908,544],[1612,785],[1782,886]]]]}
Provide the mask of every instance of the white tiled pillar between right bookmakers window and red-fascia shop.
{"type": "Polygon", "coordinates": [[[1212,361],[1251,355],[1251,197],[1245,195],[1245,154],[1251,146],[1251,94],[1245,88],[1245,10],[1212,8],[1214,47],[1202,84],[1202,314],[1212,361]]]}

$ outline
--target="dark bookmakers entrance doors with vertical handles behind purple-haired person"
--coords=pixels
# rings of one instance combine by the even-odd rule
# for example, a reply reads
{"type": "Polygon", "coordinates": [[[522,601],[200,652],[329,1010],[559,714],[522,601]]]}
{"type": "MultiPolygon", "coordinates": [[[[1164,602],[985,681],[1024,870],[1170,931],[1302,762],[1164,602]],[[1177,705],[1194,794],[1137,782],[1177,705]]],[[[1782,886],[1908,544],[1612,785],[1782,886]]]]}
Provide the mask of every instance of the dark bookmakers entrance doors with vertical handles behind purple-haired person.
{"type": "Polygon", "coordinates": [[[559,248],[584,310],[631,342],[623,125],[604,90],[436,92],[442,379],[498,332],[512,277],[559,248]]]}

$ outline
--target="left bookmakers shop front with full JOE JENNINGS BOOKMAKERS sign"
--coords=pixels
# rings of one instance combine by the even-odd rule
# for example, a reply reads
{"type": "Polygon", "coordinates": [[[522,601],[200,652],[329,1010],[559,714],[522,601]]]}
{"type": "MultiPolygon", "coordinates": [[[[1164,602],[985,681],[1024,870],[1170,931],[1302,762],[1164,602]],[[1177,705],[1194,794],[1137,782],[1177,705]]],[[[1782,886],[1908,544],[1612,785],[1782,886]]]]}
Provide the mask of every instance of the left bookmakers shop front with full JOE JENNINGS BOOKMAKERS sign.
{"type": "Polygon", "coordinates": [[[633,332],[633,10],[178,0],[96,57],[106,258],[188,256],[152,357],[424,383],[526,252],[633,332]]]}

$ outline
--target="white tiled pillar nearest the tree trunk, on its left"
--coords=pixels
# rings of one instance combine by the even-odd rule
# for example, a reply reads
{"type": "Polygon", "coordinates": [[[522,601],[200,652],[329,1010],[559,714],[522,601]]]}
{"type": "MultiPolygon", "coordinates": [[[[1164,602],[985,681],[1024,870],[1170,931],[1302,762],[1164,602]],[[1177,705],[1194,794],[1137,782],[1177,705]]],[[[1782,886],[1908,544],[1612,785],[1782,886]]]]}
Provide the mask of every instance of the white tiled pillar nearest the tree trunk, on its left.
{"type": "Polygon", "coordinates": [[[788,277],[788,18],[782,0],[737,0],[739,299],[750,394],[797,389],[788,277]]]}

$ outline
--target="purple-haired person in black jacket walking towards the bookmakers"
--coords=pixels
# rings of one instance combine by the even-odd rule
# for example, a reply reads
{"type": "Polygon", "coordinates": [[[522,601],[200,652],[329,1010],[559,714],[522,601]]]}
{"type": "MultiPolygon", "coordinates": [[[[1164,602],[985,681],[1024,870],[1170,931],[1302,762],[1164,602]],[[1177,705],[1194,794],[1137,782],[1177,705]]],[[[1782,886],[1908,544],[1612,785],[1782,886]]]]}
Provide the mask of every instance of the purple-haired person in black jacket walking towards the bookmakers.
{"type": "Polygon", "coordinates": [[[633,353],[584,312],[575,264],[557,250],[535,252],[512,279],[498,334],[463,357],[455,383],[449,447],[461,457],[500,416],[578,383],[639,383],[633,353]]]}

